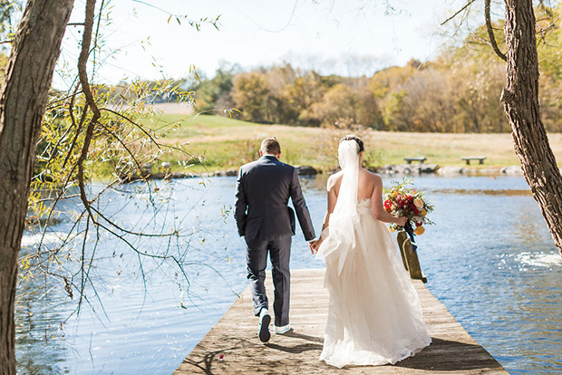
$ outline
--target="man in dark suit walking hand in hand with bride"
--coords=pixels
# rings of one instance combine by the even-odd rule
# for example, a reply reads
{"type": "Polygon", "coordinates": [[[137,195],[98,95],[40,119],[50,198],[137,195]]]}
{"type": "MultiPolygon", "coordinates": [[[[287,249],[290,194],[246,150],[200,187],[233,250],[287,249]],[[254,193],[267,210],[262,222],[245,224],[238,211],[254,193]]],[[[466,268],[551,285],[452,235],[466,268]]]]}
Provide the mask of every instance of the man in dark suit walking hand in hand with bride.
{"type": "Polygon", "coordinates": [[[269,341],[266,287],[267,252],[273,265],[275,331],[289,327],[289,255],[291,236],[295,235],[295,214],[287,207],[289,197],[307,241],[315,230],[301,191],[296,168],[279,161],[281,146],[276,138],[266,138],[259,149],[260,159],[240,168],[236,187],[238,234],[246,240],[247,278],[250,280],[254,313],[259,317],[259,340],[269,341]]]}

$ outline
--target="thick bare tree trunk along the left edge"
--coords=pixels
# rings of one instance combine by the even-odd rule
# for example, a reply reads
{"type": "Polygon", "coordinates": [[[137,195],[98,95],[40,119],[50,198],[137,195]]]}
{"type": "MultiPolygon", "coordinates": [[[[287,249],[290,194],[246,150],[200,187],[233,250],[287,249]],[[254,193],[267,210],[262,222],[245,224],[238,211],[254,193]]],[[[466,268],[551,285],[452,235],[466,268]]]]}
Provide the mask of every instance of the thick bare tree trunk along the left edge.
{"type": "Polygon", "coordinates": [[[73,0],[28,1],[0,92],[0,375],[15,375],[17,256],[35,144],[73,0]]]}

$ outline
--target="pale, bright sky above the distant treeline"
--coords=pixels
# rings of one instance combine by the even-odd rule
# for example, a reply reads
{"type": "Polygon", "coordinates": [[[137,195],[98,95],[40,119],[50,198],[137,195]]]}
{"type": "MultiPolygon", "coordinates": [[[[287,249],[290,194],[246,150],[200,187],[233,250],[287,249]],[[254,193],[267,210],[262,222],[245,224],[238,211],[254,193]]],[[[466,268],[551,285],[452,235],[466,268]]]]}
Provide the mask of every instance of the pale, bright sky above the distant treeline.
{"type": "MultiPolygon", "coordinates": [[[[98,1],[100,4],[101,1],[98,1]]],[[[412,58],[435,57],[448,36],[441,22],[461,0],[110,0],[102,20],[97,82],[212,76],[237,63],[248,70],[291,63],[325,74],[372,75],[412,58]],[[392,6],[389,6],[389,4],[392,6]],[[179,15],[181,24],[170,14],[179,15]],[[218,30],[184,19],[218,19],[218,30]],[[105,24],[105,25],[104,25],[105,24]]],[[[77,1],[71,22],[83,19],[77,1]]],[[[59,68],[73,66],[80,26],[69,26],[59,68]]],[[[63,71],[64,69],[59,69],[63,71]]],[[[71,84],[58,73],[56,86],[71,84]]]]}

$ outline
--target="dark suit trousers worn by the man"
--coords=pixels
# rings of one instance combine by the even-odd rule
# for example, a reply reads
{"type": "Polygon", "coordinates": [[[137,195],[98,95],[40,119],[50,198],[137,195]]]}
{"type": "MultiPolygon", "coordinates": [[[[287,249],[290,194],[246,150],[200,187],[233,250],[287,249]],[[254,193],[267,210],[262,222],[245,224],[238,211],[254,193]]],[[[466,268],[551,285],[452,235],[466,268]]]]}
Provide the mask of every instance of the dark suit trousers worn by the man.
{"type": "Polygon", "coordinates": [[[291,255],[291,236],[276,240],[259,240],[245,237],[247,278],[250,281],[254,313],[259,315],[261,309],[268,308],[266,285],[267,253],[273,266],[273,286],[275,299],[275,325],[282,327],[289,323],[289,296],[291,292],[291,273],[289,258],[291,255]]]}

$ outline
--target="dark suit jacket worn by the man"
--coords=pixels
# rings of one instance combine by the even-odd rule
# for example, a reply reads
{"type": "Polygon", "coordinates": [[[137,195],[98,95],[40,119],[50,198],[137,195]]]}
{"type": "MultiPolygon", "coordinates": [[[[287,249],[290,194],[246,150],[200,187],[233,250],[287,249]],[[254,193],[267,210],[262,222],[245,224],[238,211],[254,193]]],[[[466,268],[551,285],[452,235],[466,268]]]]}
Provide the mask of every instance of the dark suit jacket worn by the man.
{"type": "Polygon", "coordinates": [[[315,229],[296,168],[272,155],[242,166],[238,173],[234,213],[238,234],[260,240],[295,235],[295,216],[287,207],[289,197],[305,239],[314,239],[315,229]]]}

